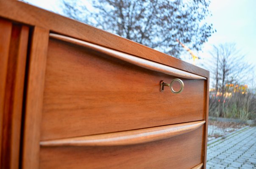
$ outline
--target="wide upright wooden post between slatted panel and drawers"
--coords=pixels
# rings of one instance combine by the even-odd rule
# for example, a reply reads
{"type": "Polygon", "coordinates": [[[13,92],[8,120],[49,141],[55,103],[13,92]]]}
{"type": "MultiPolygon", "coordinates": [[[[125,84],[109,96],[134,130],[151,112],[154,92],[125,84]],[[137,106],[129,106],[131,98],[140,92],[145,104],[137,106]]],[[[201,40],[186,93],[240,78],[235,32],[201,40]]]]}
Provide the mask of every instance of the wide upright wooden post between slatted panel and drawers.
{"type": "Polygon", "coordinates": [[[29,56],[22,169],[39,168],[40,123],[42,117],[48,39],[49,30],[40,27],[34,28],[31,41],[31,53],[29,56]]]}

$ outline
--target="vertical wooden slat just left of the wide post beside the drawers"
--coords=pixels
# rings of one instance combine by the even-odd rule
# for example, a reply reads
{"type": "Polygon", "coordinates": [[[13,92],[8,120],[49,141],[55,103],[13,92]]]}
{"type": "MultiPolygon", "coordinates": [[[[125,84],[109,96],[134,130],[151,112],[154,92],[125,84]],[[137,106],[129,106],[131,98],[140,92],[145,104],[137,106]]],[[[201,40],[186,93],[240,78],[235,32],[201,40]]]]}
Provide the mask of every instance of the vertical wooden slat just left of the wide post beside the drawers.
{"type": "MultiPolygon", "coordinates": [[[[11,157],[10,157],[10,169],[18,169],[19,167],[19,148],[20,148],[20,129],[21,129],[21,118],[22,118],[22,99],[23,99],[23,89],[24,89],[24,79],[25,79],[25,66],[26,57],[28,49],[28,33],[29,28],[27,26],[22,26],[19,37],[19,45],[12,46],[10,50],[14,50],[16,47],[17,52],[14,53],[17,59],[17,67],[15,70],[14,86],[11,89],[13,98],[11,107],[12,117],[11,117],[11,139],[9,140],[11,144],[11,157]]],[[[12,71],[12,70],[10,70],[12,71]]]]}

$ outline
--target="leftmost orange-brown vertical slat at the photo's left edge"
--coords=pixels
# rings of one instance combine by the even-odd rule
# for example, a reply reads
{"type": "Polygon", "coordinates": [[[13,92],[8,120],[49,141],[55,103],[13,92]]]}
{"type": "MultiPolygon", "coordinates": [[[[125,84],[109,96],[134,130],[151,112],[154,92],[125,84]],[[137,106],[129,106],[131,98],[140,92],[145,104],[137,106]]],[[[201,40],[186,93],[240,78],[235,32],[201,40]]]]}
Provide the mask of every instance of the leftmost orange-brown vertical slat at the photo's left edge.
{"type": "Polygon", "coordinates": [[[11,22],[0,19],[0,168],[2,168],[3,109],[6,88],[8,52],[11,40],[11,22]]]}

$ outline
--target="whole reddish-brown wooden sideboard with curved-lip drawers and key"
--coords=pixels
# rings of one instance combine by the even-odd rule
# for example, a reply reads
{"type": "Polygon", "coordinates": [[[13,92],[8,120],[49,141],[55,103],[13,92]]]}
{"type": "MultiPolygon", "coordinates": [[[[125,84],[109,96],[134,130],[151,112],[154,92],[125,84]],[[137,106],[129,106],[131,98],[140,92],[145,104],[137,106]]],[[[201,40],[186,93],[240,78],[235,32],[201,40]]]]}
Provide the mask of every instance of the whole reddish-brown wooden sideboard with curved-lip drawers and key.
{"type": "Polygon", "coordinates": [[[206,168],[209,71],[0,0],[1,169],[206,168]]]}

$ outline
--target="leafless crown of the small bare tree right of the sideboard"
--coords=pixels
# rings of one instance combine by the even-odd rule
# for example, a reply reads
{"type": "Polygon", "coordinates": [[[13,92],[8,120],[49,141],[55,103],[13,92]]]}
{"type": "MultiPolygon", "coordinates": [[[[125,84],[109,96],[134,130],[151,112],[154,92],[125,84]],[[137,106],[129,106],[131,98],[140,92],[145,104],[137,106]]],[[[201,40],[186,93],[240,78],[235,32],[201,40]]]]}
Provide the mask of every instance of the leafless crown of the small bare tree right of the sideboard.
{"type": "Polygon", "coordinates": [[[216,90],[224,92],[227,83],[242,83],[245,81],[253,65],[245,62],[245,55],[236,48],[236,44],[220,44],[213,46],[210,54],[215,62],[212,74],[214,74],[216,90]]]}

